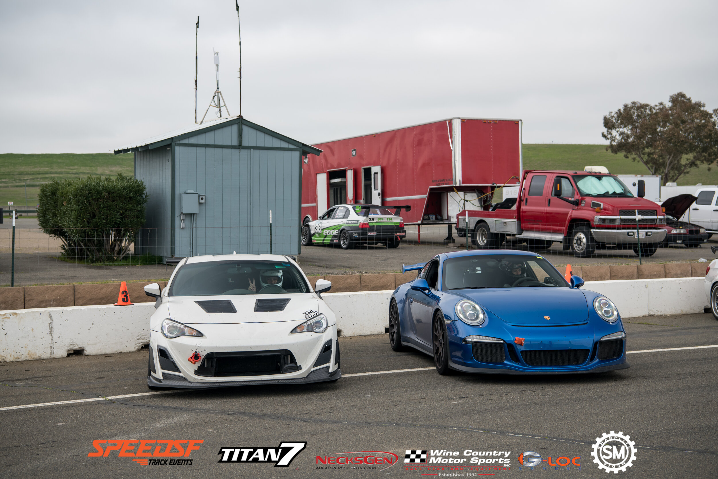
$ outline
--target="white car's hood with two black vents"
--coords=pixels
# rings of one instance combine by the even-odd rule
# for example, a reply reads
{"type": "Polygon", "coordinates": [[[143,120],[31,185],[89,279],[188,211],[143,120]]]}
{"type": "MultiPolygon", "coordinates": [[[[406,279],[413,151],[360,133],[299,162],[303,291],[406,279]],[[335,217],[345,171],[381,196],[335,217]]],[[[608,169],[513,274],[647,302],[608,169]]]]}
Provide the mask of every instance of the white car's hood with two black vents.
{"type": "Polygon", "coordinates": [[[170,319],[186,325],[297,321],[305,319],[305,311],[317,311],[318,305],[317,298],[311,293],[174,296],[169,297],[167,303],[170,319]],[[286,302],[287,299],[289,302],[286,302]],[[223,303],[228,300],[236,312],[208,312],[231,310],[231,307],[228,308],[226,303],[223,303]],[[204,304],[205,308],[197,302],[204,304]],[[276,311],[283,303],[286,303],[284,309],[276,311]],[[259,311],[255,311],[256,309],[259,311]],[[263,309],[269,311],[261,311],[263,309]]]}

